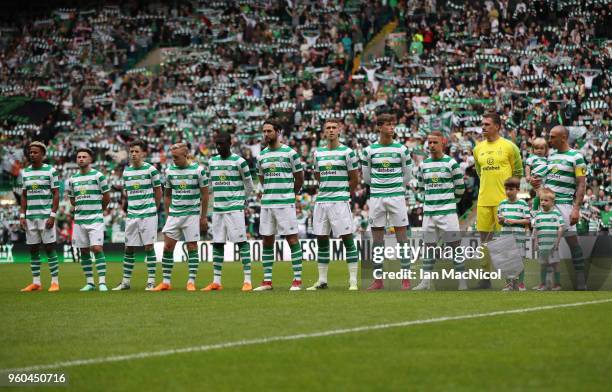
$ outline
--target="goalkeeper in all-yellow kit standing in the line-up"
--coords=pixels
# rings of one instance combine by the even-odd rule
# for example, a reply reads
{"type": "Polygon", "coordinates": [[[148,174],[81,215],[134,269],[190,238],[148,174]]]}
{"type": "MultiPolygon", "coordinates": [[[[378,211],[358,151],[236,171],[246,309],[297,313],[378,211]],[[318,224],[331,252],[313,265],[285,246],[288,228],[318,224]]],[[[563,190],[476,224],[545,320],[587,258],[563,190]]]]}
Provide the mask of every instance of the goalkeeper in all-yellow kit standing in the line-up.
{"type": "MultiPolygon", "coordinates": [[[[500,136],[501,118],[497,113],[482,116],[484,140],[474,147],[476,173],[480,177],[478,204],[476,209],[476,230],[482,242],[493,238],[493,232],[500,229],[497,222],[497,206],[506,198],[504,181],[510,177],[523,176],[523,162],[518,147],[500,136]]],[[[489,271],[490,259],[484,259],[483,267],[489,271]]],[[[481,280],[479,288],[491,287],[490,280],[481,280]]]]}

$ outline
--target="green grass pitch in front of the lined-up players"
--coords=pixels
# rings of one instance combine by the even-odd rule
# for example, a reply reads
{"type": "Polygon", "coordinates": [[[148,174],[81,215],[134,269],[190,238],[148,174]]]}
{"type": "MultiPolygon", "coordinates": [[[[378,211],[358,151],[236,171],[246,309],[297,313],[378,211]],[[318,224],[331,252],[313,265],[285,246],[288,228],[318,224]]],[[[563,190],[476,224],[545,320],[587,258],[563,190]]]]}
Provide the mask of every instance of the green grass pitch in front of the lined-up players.
{"type": "MultiPolygon", "coordinates": [[[[242,293],[231,263],[222,292],[185,292],[180,264],[174,291],[145,292],[138,264],[129,292],[79,293],[80,266],[61,267],[60,293],[20,293],[29,267],[0,265],[0,369],[93,359],[41,370],[68,375],[57,390],[609,390],[610,292],[348,292],[344,263],[331,264],[330,290],[289,292],[278,263],[273,292],[242,293]]],[[[109,265],[109,286],[120,269],[109,265]]],[[[312,283],[316,264],[304,269],[312,283]]],[[[198,285],[211,276],[201,266],[198,285]]]]}

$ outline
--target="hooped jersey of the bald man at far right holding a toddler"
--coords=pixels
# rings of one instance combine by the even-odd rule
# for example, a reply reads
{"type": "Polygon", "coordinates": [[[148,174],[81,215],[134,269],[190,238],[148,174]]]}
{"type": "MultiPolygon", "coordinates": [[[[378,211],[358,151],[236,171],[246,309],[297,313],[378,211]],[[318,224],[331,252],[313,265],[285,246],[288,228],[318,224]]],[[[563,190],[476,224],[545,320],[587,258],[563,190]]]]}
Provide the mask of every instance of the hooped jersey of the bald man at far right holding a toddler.
{"type": "Polygon", "coordinates": [[[586,176],[586,162],[576,150],[555,152],[548,157],[548,174],[544,186],[555,192],[555,203],[572,204],[576,177],[586,176]]]}

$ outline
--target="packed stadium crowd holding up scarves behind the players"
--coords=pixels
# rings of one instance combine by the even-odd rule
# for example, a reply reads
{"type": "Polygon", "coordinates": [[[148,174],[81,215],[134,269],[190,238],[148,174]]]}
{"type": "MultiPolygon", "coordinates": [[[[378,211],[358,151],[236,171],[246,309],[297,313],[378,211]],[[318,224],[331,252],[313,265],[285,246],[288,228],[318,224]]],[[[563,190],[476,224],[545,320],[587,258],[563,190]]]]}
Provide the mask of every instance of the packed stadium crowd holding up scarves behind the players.
{"type": "MultiPolygon", "coordinates": [[[[478,194],[471,154],[480,115],[495,110],[524,159],[536,137],[558,124],[570,127],[572,146],[589,169],[583,231],[607,230],[611,11],[609,0],[243,0],[59,9],[47,19],[16,21],[0,36],[2,99],[50,104],[37,125],[4,111],[2,181],[15,185],[18,198],[31,140],[49,146],[49,161],[63,180],[77,171],[76,149],[94,149],[94,166],[115,186],[105,218],[110,241],[124,224],[118,185],[130,140],[144,139],[150,162],[163,173],[172,143],[189,142],[205,163],[215,152],[215,131],[228,130],[235,152],[254,170],[261,124],[273,115],[307,167],[297,210],[306,237],[316,190],[312,151],[322,120],[341,117],[343,141],[359,153],[377,138],[376,107],[391,107],[399,119],[396,136],[415,167],[425,156],[427,133],[443,131],[466,175],[463,214],[478,194]],[[389,23],[396,24],[397,40],[372,56],[367,43],[389,23]]],[[[522,190],[530,190],[526,181],[522,190]]],[[[407,194],[413,227],[422,220],[421,197],[415,180],[407,194]]],[[[368,229],[366,200],[360,186],[352,200],[360,233],[368,229]]],[[[246,210],[252,238],[258,211],[253,198],[246,210]]],[[[0,242],[22,238],[18,214],[17,206],[0,206],[0,242]]],[[[69,241],[71,222],[64,198],[58,238],[69,241]]]]}

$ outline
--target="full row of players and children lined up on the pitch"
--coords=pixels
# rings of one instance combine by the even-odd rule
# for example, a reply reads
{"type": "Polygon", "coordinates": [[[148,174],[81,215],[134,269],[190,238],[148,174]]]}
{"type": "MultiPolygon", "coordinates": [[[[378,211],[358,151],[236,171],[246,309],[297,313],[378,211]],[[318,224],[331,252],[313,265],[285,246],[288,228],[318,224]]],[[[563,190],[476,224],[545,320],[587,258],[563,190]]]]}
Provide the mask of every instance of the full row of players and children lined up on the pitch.
{"type": "MultiPolygon", "coordinates": [[[[326,289],[330,261],[330,234],[340,237],[346,251],[349,290],[357,290],[358,252],[353,239],[350,197],[360,175],[370,187],[368,200],[369,221],[373,248],[384,245],[384,229],[393,226],[399,244],[408,242],[408,214],[406,188],[412,173],[412,160],[406,146],[394,141],[396,116],[384,112],[377,116],[379,140],[362,150],[361,160],[351,148],[339,142],[342,124],[328,119],[323,125],[324,147],[314,152],[315,178],[319,188],[316,197],[313,233],[317,237],[318,280],[307,290],[326,289]]],[[[559,276],[559,241],[565,233],[576,270],[577,289],[586,289],[584,260],[576,239],[576,205],[584,195],[585,162],[581,154],[569,148],[568,132],[555,127],[550,133],[550,144],[555,152],[548,154],[548,143],[534,143],[533,155],[526,162],[526,174],[538,190],[539,198],[530,212],[524,200],[517,199],[523,164],[518,148],[500,136],[501,121],[496,113],[483,116],[484,140],[474,149],[480,193],[477,207],[477,229],[483,241],[492,233],[512,235],[522,256],[529,226],[533,226],[539,259],[542,265],[541,284],[545,290],[546,270],[555,271],[554,290],[561,288],[559,276]],[[539,204],[539,208],[537,206],[539,204]]],[[[189,146],[171,146],[173,164],[165,171],[164,183],[158,170],[145,162],[147,145],[135,140],[129,144],[130,164],[123,172],[122,187],[127,196],[127,223],[123,279],[113,290],[130,289],[134,268],[134,251],[144,247],[146,252],[147,291],[172,289],[173,252],[178,241],[185,241],[188,253],[188,281],[186,290],[195,291],[199,259],[197,241],[200,233],[208,230],[209,191],[212,192],[213,281],[202,291],[221,290],[221,274],[225,242],[233,242],[240,249],[244,282],[242,291],[272,290],[275,236],[284,236],[291,249],[293,281],[291,291],[302,289],[302,250],[298,241],[296,194],[304,182],[303,164],[299,154],[281,143],[282,128],[278,122],[264,122],[263,141],[267,146],[257,157],[257,173],[261,192],[260,234],[263,237],[263,282],[253,289],[251,257],[246,236],[244,208],[247,197],[255,192],[247,162],[231,152],[231,136],[221,132],[215,137],[218,155],[210,158],[208,170],[193,160],[189,146]],[[162,186],[163,185],[163,186],[162,186]],[[163,227],[164,248],[161,283],[156,285],[156,255],[153,248],[157,237],[157,211],[163,197],[167,221],[163,227]]],[[[444,153],[446,139],[439,131],[427,137],[429,157],[418,170],[418,184],[424,193],[422,231],[427,243],[442,239],[453,244],[447,233],[460,231],[456,203],[464,193],[464,174],[460,166],[444,153]]],[[[49,291],[59,291],[59,267],[55,252],[55,216],[59,205],[59,178],[51,165],[45,164],[46,146],[32,142],[28,147],[31,165],[20,176],[22,185],[20,223],[26,230],[30,247],[32,284],[22,291],[42,290],[40,280],[41,245],[51,273],[49,291]]],[[[108,291],[106,261],[102,249],[104,241],[103,212],[110,201],[110,187],[106,177],[91,167],[93,152],[77,150],[79,171],[68,179],[67,195],[73,206],[74,229],[72,245],[80,251],[86,284],[81,291],[94,291],[94,266],[98,275],[97,289],[108,291]],[[93,260],[92,260],[93,254],[93,260]]],[[[484,268],[490,270],[487,258],[484,268]]],[[[410,259],[400,259],[402,269],[410,268],[410,259]]],[[[423,260],[423,269],[432,271],[433,259],[423,260]]],[[[376,268],[382,268],[378,266],[376,268]]],[[[455,263],[457,272],[464,271],[464,263],[455,263]]],[[[377,276],[376,271],[374,275],[377,276]]],[[[480,282],[483,288],[490,282],[480,282]]],[[[369,290],[382,289],[382,279],[374,279],[369,290]]],[[[429,279],[422,279],[414,289],[432,287],[429,279]]],[[[409,279],[402,280],[402,289],[409,290],[409,279]]],[[[459,280],[459,289],[466,290],[467,281],[459,280]]],[[[525,290],[524,272],[517,281],[508,281],[504,290],[525,290]]]]}

